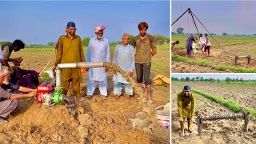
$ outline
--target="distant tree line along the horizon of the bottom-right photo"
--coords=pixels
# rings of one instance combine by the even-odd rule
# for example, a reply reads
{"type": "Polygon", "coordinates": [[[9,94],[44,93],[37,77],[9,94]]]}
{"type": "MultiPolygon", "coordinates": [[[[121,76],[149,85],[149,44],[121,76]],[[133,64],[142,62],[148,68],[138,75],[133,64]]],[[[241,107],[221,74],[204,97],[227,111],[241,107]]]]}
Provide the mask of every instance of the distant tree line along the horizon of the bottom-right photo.
{"type": "Polygon", "coordinates": [[[243,78],[229,78],[227,77],[225,80],[220,78],[203,78],[203,77],[195,77],[195,78],[175,78],[171,77],[172,81],[182,81],[182,82],[197,82],[197,81],[206,81],[206,82],[256,82],[256,80],[244,80],[243,78]]]}

